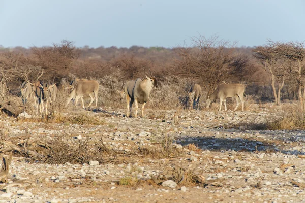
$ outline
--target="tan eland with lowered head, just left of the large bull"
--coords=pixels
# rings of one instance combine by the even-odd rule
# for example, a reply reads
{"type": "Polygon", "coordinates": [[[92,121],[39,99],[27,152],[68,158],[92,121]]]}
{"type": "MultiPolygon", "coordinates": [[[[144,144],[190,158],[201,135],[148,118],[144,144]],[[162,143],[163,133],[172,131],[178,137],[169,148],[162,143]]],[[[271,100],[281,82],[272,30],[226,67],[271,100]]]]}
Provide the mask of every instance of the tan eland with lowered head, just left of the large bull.
{"type": "Polygon", "coordinates": [[[96,80],[73,80],[69,86],[69,97],[67,99],[66,107],[70,103],[71,99],[75,98],[74,106],[76,106],[78,99],[80,98],[82,101],[82,107],[85,108],[83,95],[88,94],[91,98],[89,103],[90,107],[94,101],[96,100],[96,107],[98,107],[98,91],[99,91],[99,83],[96,80]]]}

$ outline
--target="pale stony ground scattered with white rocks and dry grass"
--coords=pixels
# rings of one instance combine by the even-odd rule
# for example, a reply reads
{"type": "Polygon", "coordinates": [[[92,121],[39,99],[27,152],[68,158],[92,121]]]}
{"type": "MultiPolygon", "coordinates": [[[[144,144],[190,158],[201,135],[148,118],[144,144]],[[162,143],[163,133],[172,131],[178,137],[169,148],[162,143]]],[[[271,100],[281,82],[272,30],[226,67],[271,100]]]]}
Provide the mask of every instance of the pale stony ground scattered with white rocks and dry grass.
{"type": "Polygon", "coordinates": [[[230,111],[234,103],[227,112],[151,104],[144,118],[126,118],[125,103],[59,112],[60,99],[50,117],[1,115],[1,151],[12,154],[1,202],[305,199],[305,119],[296,104],[248,102],[245,112],[230,111]]]}

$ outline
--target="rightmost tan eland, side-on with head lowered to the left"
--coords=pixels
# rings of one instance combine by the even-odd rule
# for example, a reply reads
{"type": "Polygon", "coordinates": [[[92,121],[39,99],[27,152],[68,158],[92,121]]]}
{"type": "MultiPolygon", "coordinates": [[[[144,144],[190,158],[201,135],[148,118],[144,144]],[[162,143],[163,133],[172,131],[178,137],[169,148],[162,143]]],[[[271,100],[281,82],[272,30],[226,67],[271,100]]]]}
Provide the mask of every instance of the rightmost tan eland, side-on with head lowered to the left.
{"type": "Polygon", "coordinates": [[[214,92],[211,93],[211,95],[207,98],[206,100],[206,107],[209,108],[212,104],[212,102],[214,102],[217,98],[220,99],[220,106],[219,106],[219,111],[221,111],[221,106],[222,103],[224,102],[225,105],[225,110],[227,111],[227,104],[226,104],[226,98],[231,98],[233,96],[235,96],[236,98],[236,102],[237,105],[234,109],[234,111],[237,110],[240,102],[241,101],[241,105],[242,105],[242,111],[245,107],[244,104],[244,96],[245,96],[245,85],[242,84],[220,84],[218,85],[218,87],[216,88],[216,90],[214,92]]]}

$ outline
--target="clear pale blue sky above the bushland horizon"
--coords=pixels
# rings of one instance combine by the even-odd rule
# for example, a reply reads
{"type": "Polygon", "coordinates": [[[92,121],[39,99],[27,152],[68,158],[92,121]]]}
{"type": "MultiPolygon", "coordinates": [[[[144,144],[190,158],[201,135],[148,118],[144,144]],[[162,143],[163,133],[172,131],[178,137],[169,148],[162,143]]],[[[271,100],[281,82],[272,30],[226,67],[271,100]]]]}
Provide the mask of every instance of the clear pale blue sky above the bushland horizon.
{"type": "Polygon", "coordinates": [[[0,45],[175,47],[198,33],[258,46],[305,40],[302,0],[0,0],[0,45]]]}

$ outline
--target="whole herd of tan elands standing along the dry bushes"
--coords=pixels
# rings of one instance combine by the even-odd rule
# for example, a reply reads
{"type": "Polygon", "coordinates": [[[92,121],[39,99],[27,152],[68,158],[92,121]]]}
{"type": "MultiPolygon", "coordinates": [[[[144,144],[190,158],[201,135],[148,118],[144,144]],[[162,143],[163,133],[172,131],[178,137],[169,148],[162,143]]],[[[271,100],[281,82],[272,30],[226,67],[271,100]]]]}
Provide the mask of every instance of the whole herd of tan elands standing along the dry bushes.
{"type": "MultiPolygon", "coordinates": [[[[26,77],[26,81],[24,81],[20,86],[20,93],[22,102],[25,105],[29,98],[34,99],[34,104],[37,107],[38,113],[48,114],[48,103],[52,104],[56,100],[57,86],[54,84],[47,84],[43,81],[39,80],[41,75],[37,78],[36,82],[31,83],[26,77]]],[[[135,103],[135,114],[137,117],[138,113],[138,104],[142,104],[142,117],[144,116],[144,107],[147,101],[149,100],[149,94],[153,88],[157,87],[157,79],[155,76],[141,79],[138,78],[136,80],[130,80],[126,82],[124,85],[124,89],[119,91],[116,90],[120,99],[122,100],[124,96],[126,97],[127,102],[127,117],[132,117],[132,105],[135,103]]],[[[211,108],[211,104],[216,100],[220,99],[219,111],[221,111],[222,104],[225,106],[225,110],[227,111],[226,98],[235,97],[237,101],[237,105],[234,111],[237,110],[240,102],[242,105],[242,111],[245,108],[244,97],[245,97],[245,85],[242,84],[220,84],[206,99],[206,108],[211,108]],[[240,100],[240,102],[239,102],[240,100]]],[[[98,91],[99,91],[99,83],[96,80],[73,80],[69,87],[64,89],[68,90],[69,96],[66,101],[65,107],[67,107],[70,101],[74,100],[74,106],[76,106],[79,98],[82,101],[82,107],[84,106],[83,95],[88,94],[91,98],[91,101],[88,105],[90,107],[95,100],[96,108],[98,106],[98,91]]],[[[189,103],[193,106],[193,109],[198,110],[200,105],[200,98],[202,96],[202,90],[200,85],[192,84],[186,90],[189,97],[189,103]]]]}

